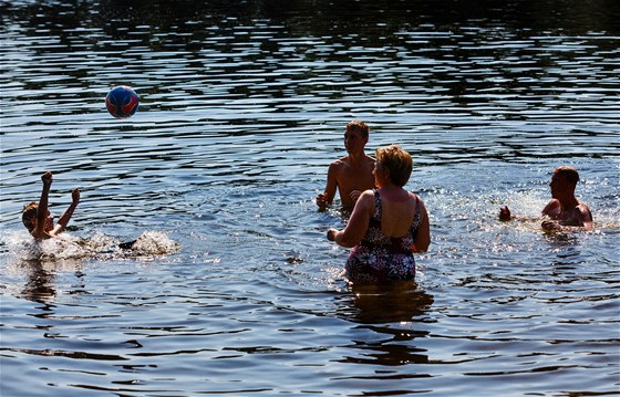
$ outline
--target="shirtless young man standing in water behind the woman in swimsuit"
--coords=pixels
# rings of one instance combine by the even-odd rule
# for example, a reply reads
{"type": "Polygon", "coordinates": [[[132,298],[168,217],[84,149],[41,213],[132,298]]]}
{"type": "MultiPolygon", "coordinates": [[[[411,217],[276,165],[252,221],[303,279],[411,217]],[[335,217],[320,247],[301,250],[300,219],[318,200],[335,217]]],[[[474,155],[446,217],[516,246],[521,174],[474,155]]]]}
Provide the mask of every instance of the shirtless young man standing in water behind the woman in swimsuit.
{"type": "Polygon", "coordinates": [[[344,148],[348,156],[330,164],[326,190],[317,196],[319,208],[331,205],[338,189],[342,208],[351,211],[362,191],[374,188],[374,158],[364,153],[369,130],[365,123],[356,119],[347,124],[344,148]]]}

